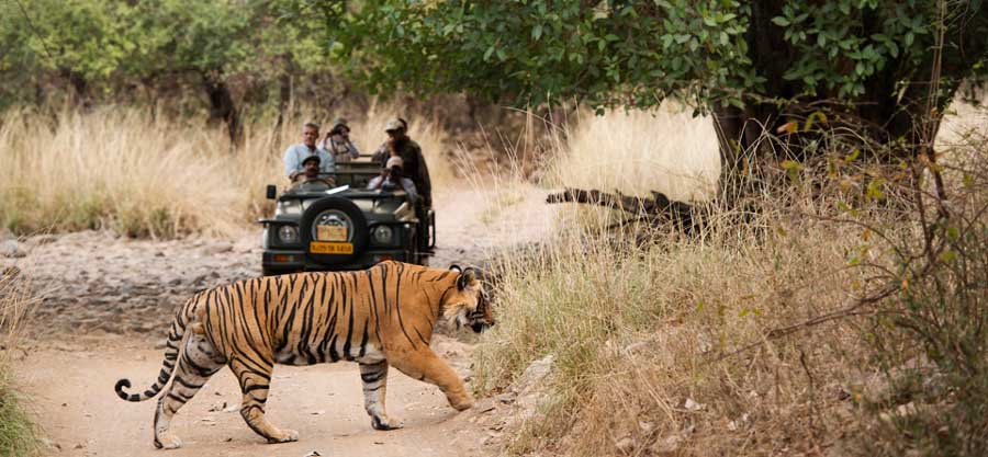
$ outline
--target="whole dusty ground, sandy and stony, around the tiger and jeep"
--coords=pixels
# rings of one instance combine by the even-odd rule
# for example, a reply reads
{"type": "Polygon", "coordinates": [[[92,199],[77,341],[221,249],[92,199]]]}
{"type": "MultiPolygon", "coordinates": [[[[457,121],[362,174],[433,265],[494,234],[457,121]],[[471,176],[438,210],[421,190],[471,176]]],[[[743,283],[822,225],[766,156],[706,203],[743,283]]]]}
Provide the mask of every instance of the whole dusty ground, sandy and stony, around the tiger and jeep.
{"type": "MultiPolygon", "coordinates": [[[[440,242],[431,264],[437,267],[483,264],[494,250],[553,231],[553,208],[538,190],[463,191],[436,202],[440,242]]],[[[260,274],[258,233],[154,241],[80,232],[8,243],[0,270],[16,265],[42,297],[13,356],[47,453],[161,455],[151,445],[155,402],[121,401],[113,385],[121,377],[135,388],[154,381],[173,309],[192,292],[260,274]]],[[[437,335],[434,349],[469,379],[471,344],[437,335]]],[[[375,432],[362,408],[356,365],[278,366],[269,413],[279,426],[297,430],[301,441],[267,445],[234,411],[238,401],[233,376],[227,370],[214,376],[177,415],[175,430],[186,446],[169,455],[496,454],[494,438],[504,421],[491,418],[507,403],[481,399],[458,414],[438,388],[392,370],[389,410],[406,426],[375,432]]]]}

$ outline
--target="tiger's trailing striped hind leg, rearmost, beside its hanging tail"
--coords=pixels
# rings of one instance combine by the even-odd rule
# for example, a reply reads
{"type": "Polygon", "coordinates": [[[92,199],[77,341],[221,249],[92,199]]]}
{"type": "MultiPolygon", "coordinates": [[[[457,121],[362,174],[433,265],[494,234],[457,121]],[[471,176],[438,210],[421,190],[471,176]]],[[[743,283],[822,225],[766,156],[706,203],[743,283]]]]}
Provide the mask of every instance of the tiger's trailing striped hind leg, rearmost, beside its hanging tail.
{"type": "Polygon", "coordinates": [[[223,356],[203,334],[202,325],[193,324],[192,332],[186,340],[186,349],[179,357],[171,386],[168,392],[158,399],[158,409],[155,411],[155,447],[159,449],[181,447],[181,439],[168,431],[171,418],[195,396],[210,376],[223,368],[225,363],[223,356]]]}

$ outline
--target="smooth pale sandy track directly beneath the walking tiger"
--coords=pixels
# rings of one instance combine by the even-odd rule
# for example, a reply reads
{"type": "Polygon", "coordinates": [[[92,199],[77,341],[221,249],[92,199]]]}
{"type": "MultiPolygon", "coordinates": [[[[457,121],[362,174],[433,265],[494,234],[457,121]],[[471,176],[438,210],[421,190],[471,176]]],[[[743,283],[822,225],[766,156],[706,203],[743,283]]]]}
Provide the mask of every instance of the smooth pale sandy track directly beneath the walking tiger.
{"type": "MultiPolygon", "coordinates": [[[[437,335],[434,347],[461,373],[469,346],[437,335]]],[[[483,455],[486,437],[471,427],[478,411],[458,413],[431,385],[391,370],[389,412],[405,429],[378,432],[363,411],[356,364],[311,367],[278,366],[272,379],[268,414],[280,427],[299,431],[297,443],[268,445],[251,432],[238,412],[236,379],[224,369],[176,415],[175,432],[184,446],[156,450],[151,420],[156,399],[141,403],[120,400],[116,379],[127,377],[135,389],[154,381],[161,351],[135,349],[131,342],[101,340],[97,345],[60,349],[35,346],[15,365],[24,391],[33,399],[49,439],[47,453],[67,456],[292,456],[312,450],[323,456],[483,455]],[[212,410],[212,411],[211,411],[212,410]]]]}

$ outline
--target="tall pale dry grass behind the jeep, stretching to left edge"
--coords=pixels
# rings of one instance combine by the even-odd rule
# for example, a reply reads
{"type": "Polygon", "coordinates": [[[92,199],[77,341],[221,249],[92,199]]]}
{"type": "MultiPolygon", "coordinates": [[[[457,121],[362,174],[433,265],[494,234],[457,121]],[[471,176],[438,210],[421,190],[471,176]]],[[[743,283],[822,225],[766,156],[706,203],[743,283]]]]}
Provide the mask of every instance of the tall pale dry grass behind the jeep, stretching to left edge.
{"type": "MultiPolygon", "coordinates": [[[[366,122],[352,124],[358,146],[370,151],[380,145],[393,113],[361,115],[366,122]]],[[[268,122],[250,124],[243,146],[232,149],[222,129],[200,118],[120,106],[54,118],[9,112],[0,119],[0,225],[18,232],[110,229],[131,237],[242,233],[269,209],[265,184],[288,184],[281,155],[301,140],[304,121],[279,130],[268,122]]],[[[451,179],[440,156],[445,134],[415,117],[411,133],[441,191],[451,179]]]]}

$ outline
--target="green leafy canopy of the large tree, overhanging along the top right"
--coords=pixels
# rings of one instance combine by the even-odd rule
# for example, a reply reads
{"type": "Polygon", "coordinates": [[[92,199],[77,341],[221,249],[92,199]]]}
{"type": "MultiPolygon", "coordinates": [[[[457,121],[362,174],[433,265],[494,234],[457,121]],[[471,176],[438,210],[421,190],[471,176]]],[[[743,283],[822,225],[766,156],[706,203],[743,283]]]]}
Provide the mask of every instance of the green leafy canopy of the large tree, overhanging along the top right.
{"type": "MultiPolygon", "coordinates": [[[[945,89],[984,77],[988,11],[947,1],[945,89]],[[967,39],[966,39],[967,38],[967,39]]],[[[928,81],[938,1],[368,0],[336,56],[377,88],[478,91],[518,105],[854,102],[928,81]]]]}

